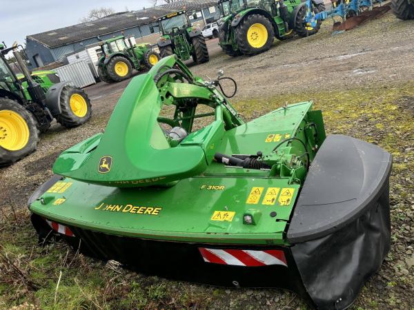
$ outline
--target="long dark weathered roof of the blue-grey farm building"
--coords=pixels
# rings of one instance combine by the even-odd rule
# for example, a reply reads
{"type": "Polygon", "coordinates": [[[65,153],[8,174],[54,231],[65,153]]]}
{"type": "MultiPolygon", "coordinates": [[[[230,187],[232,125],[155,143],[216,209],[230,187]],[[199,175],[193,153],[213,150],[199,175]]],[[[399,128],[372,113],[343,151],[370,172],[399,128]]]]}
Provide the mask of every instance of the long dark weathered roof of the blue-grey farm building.
{"type": "Polygon", "coordinates": [[[65,28],[30,34],[28,38],[34,39],[49,48],[57,48],[61,45],[83,41],[99,35],[136,27],[137,25],[145,25],[156,21],[158,17],[176,10],[187,10],[191,12],[193,10],[215,6],[216,4],[217,1],[211,0],[181,0],[164,4],[163,6],[146,8],[145,10],[115,13],[88,23],[79,23],[65,28]]]}

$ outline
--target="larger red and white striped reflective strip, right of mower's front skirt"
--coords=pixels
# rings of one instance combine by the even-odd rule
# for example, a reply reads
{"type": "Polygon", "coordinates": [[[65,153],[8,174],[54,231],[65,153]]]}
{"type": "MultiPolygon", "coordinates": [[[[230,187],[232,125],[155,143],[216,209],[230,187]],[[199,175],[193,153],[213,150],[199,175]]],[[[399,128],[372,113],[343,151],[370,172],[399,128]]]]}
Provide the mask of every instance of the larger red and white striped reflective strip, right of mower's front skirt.
{"type": "Polygon", "coordinates": [[[241,250],[241,249],[207,249],[199,247],[201,256],[205,262],[233,266],[268,266],[283,265],[288,267],[288,262],[282,250],[241,250]]]}

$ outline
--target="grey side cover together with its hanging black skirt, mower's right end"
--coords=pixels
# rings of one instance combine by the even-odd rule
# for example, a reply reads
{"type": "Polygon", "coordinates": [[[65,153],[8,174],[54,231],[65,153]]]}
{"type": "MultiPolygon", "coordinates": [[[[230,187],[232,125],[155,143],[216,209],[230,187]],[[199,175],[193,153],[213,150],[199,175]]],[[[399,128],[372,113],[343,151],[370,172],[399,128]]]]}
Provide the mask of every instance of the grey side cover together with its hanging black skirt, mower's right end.
{"type": "Polygon", "coordinates": [[[391,245],[392,157],[342,135],[315,156],[287,232],[304,287],[318,309],[346,309],[391,245]]]}

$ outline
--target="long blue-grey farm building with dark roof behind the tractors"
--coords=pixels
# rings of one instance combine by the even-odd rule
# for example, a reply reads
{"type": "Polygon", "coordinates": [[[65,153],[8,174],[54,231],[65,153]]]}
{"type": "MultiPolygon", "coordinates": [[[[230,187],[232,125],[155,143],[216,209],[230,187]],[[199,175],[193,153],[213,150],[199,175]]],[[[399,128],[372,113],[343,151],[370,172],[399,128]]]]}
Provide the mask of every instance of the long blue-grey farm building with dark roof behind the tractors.
{"type": "Polygon", "coordinates": [[[135,37],[137,43],[155,43],[159,37],[157,18],[177,10],[186,10],[193,25],[200,28],[203,28],[206,23],[219,19],[217,1],[182,0],[153,8],[116,13],[88,23],[30,34],[26,37],[26,52],[32,68],[38,68],[55,61],[62,61],[67,55],[90,48],[100,39],[117,37],[123,32],[127,37],[135,37]],[[153,32],[150,30],[151,24],[154,26],[153,32]]]}

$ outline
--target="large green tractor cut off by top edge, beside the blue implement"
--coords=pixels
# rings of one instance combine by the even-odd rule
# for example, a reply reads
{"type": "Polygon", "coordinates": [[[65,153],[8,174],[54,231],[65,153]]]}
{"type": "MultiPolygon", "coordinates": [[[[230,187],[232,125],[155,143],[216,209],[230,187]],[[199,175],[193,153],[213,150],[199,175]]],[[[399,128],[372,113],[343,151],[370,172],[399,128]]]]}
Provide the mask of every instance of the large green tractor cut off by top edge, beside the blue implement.
{"type": "MultiPolygon", "coordinates": [[[[270,49],[274,38],[286,40],[295,33],[307,37],[319,31],[304,23],[306,3],[301,0],[219,0],[219,45],[230,56],[252,56],[270,49]]],[[[323,0],[313,1],[314,13],[324,10],[323,0]]]]}

